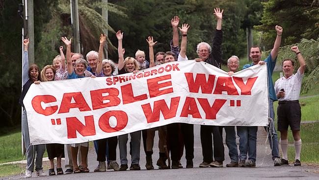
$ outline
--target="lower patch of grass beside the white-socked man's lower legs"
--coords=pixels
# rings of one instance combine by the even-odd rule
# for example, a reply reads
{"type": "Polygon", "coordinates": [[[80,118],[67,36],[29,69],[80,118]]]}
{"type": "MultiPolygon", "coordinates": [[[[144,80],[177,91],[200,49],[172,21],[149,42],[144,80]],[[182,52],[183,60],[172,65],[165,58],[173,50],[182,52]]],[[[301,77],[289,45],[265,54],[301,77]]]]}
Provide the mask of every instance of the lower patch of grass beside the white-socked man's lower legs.
{"type": "MultiPolygon", "coordinates": [[[[307,163],[319,163],[319,122],[317,123],[307,123],[301,124],[300,136],[302,140],[301,147],[301,162],[307,163]]],[[[293,145],[293,137],[291,131],[288,133],[288,158],[292,161],[294,160],[295,152],[293,145]]]]}

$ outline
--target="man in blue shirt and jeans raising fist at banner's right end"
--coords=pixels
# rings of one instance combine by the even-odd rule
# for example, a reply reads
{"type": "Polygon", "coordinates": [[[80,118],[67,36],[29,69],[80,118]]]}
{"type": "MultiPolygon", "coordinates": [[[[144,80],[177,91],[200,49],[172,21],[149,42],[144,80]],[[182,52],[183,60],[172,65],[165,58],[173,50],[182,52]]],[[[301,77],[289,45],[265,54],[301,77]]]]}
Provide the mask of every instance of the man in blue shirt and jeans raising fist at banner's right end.
{"type": "MultiPolygon", "coordinates": [[[[254,46],[250,48],[249,57],[253,61],[251,64],[246,64],[242,69],[246,69],[256,64],[267,65],[268,73],[268,91],[269,91],[269,113],[270,118],[274,120],[275,113],[273,110],[273,101],[277,100],[276,93],[272,83],[272,72],[276,65],[277,55],[279,47],[281,44],[281,36],[283,29],[280,26],[276,26],[275,30],[277,32],[276,40],[271,50],[270,55],[264,60],[261,61],[262,51],[260,47],[254,46]]],[[[274,126],[273,121],[270,121],[268,126],[265,126],[266,131],[270,131],[268,134],[268,139],[270,143],[270,148],[272,150],[272,160],[274,161],[274,166],[280,166],[281,160],[279,156],[279,146],[278,146],[278,137],[277,132],[274,126]],[[268,130],[267,130],[268,129],[268,130]]],[[[239,167],[255,167],[256,166],[256,140],[257,140],[257,127],[256,126],[238,126],[237,127],[238,136],[239,136],[239,167]],[[248,148],[247,148],[248,147],[248,148]],[[245,162],[247,151],[249,155],[249,160],[245,162]]]]}

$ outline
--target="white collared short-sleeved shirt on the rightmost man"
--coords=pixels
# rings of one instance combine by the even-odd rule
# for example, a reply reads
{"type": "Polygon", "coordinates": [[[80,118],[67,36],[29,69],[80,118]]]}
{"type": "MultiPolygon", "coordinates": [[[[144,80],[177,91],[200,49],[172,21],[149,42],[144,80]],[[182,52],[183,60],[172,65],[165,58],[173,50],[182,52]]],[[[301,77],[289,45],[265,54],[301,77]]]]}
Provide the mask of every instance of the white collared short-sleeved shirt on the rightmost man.
{"type": "Polygon", "coordinates": [[[279,101],[294,101],[299,99],[301,82],[303,74],[300,74],[298,69],[296,74],[292,74],[289,78],[279,78],[275,82],[275,91],[278,93],[281,89],[285,90],[285,96],[279,98],[279,101]]]}

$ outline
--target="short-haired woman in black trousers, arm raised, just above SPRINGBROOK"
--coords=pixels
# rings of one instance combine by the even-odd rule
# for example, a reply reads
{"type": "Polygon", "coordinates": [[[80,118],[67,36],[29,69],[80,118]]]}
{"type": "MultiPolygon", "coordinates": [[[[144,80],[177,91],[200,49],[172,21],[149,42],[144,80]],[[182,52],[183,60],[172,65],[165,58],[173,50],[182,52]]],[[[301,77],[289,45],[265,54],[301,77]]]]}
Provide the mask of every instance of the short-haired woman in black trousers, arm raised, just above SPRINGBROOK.
{"type": "MultiPolygon", "coordinates": [[[[98,65],[96,68],[97,77],[112,76],[115,70],[115,66],[112,60],[102,60],[103,59],[103,49],[106,42],[106,35],[100,35],[100,47],[99,47],[99,58],[98,65]]],[[[97,140],[98,152],[97,161],[99,165],[94,171],[105,172],[106,171],[106,144],[108,143],[108,159],[110,160],[109,169],[114,171],[119,170],[119,165],[116,162],[116,147],[117,147],[117,136],[99,139],[97,140]]]]}

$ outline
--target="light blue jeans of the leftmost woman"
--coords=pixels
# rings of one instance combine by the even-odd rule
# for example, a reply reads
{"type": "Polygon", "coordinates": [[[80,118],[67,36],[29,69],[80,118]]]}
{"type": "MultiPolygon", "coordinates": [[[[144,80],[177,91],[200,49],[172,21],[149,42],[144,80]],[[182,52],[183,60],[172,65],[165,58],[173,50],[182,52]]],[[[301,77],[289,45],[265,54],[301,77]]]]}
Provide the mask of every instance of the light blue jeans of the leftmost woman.
{"type": "Polygon", "coordinates": [[[22,113],[22,134],[25,147],[27,149],[27,170],[33,172],[34,168],[34,157],[35,158],[35,170],[41,170],[42,168],[42,158],[44,151],[46,150],[46,145],[30,145],[29,129],[27,125],[27,112],[24,109],[22,113]]]}

